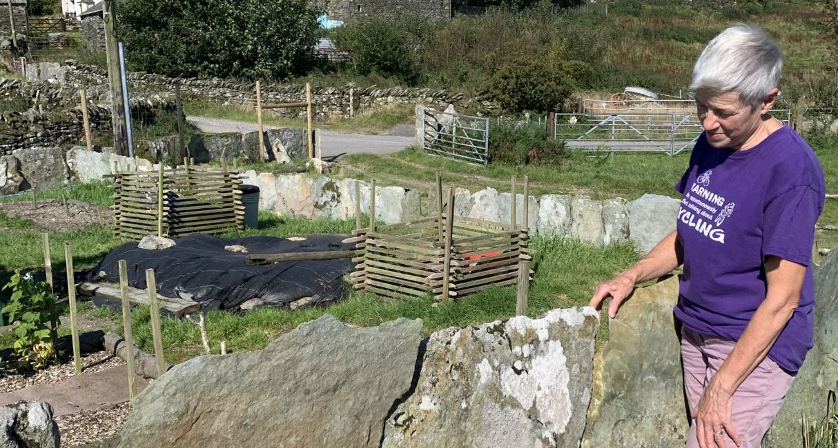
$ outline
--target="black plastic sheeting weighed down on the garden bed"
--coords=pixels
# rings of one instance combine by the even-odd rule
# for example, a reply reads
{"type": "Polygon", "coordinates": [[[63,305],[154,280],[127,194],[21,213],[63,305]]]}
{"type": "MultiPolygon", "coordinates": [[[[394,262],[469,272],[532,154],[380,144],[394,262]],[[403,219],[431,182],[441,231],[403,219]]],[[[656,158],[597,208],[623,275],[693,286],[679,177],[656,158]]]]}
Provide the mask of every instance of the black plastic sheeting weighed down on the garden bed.
{"type": "Polygon", "coordinates": [[[272,236],[220,239],[192,234],[174,239],[176,245],[163,250],[137,248],[137,242],[112,250],[91,270],[89,281],[119,281],[119,260],[128,265],[128,284],[146,288],[145,270],[154,270],[158,294],[198,301],[207,309],[237,310],[253,298],[264,306],[287,306],[303,297],[313,304],[342,298],[346,292],[343,275],[353,266],[349,259],[283,261],[274,265],[247,265],[251,254],[352,250],[340,241],[350,235],[309,235],[302,241],[272,236]],[[243,245],[249,252],[231,252],[225,245],[243,245]]]}

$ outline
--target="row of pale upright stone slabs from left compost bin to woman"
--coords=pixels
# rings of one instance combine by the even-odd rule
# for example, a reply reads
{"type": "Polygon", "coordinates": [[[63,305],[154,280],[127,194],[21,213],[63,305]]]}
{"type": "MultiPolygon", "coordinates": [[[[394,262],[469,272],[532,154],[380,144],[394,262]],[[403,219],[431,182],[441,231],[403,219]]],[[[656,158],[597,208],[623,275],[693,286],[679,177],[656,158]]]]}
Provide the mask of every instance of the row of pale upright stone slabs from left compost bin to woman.
{"type": "MultiPolygon", "coordinates": [[[[259,208],[277,214],[306,218],[354,218],[354,179],[332,179],[308,174],[274,175],[248,171],[244,183],[260,188],[259,208]]],[[[361,181],[361,209],[370,207],[370,186],[361,181]]],[[[433,193],[431,192],[431,197],[433,193]]],[[[623,198],[598,200],[583,195],[530,196],[528,226],[531,234],[555,234],[581,239],[592,245],[633,241],[647,252],[675,230],[679,201],[644,194],[634,201],[623,198]]],[[[433,202],[433,199],[431,199],[433,202]]],[[[401,187],[375,190],[375,219],[394,224],[422,217],[421,192],[401,187]]],[[[471,192],[457,188],[454,214],[509,224],[510,193],[494,188],[471,192]]],[[[515,198],[516,223],[523,224],[524,195],[515,198]]]]}

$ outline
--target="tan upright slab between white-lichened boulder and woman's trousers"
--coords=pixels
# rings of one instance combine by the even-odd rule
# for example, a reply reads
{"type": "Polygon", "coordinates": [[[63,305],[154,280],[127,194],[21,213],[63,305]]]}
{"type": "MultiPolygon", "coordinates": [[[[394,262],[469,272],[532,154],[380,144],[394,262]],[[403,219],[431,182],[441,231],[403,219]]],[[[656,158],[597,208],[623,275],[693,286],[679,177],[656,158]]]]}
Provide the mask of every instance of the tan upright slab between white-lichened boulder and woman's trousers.
{"type": "Polygon", "coordinates": [[[608,322],[583,448],[684,446],[690,426],[672,314],[677,300],[673,276],[635,290],[608,322]]]}

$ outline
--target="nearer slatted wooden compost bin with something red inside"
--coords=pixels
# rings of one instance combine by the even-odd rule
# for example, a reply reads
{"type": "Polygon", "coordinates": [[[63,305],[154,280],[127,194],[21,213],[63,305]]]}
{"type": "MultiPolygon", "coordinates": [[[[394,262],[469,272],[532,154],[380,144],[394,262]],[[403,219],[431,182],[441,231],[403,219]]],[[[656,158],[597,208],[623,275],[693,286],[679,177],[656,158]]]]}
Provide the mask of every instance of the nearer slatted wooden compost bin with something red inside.
{"type": "MultiPolygon", "coordinates": [[[[437,176],[435,216],[378,227],[371,222],[369,228],[355,230],[358,236],[352,240],[358,255],[353,261],[357,265],[350,275],[354,288],[395,298],[432,293],[437,300],[449,300],[492,285],[518,284],[520,308],[531,274],[526,205],[520,226],[453,216],[453,194],[449,188],[447,210],[442,213],[439,179],[437,176]],[[449,219],[451,216],[453,219],[449,219]]],[[[356,185],[356,198],[358,193],[356,185]]],[[[370,216],[375,216],[374,198],[372,183],[370,216]]],[[[360,216],[357,199],[355,208],[356,216],[360,216]]],[[[511,215],[515,216],[514,204],[511,215]]],[[[356,222],[360,227],[360,219],[356,222]]],[[[515,219],[510,222],[515,223],[515,219]]]]}

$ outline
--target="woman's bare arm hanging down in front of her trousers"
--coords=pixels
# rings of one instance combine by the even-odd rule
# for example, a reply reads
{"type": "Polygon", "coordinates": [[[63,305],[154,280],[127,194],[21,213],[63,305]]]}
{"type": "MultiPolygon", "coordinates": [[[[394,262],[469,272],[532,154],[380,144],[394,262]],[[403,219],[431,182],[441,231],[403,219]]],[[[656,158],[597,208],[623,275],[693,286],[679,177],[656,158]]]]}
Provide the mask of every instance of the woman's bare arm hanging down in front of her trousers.
{"type": "Polygon", "coordinates": [[[779,257],[765,260],[768,293],[748,322],[745,332],[722,367],[711,378],[692,416],[696,419],[699,445],[716,446],[713,432],[721,428],[741,445],[731,421],[732,394],[754,368],[763,361],[768,350],[783,331],[798,306],[806,266],[779,257]]]}

